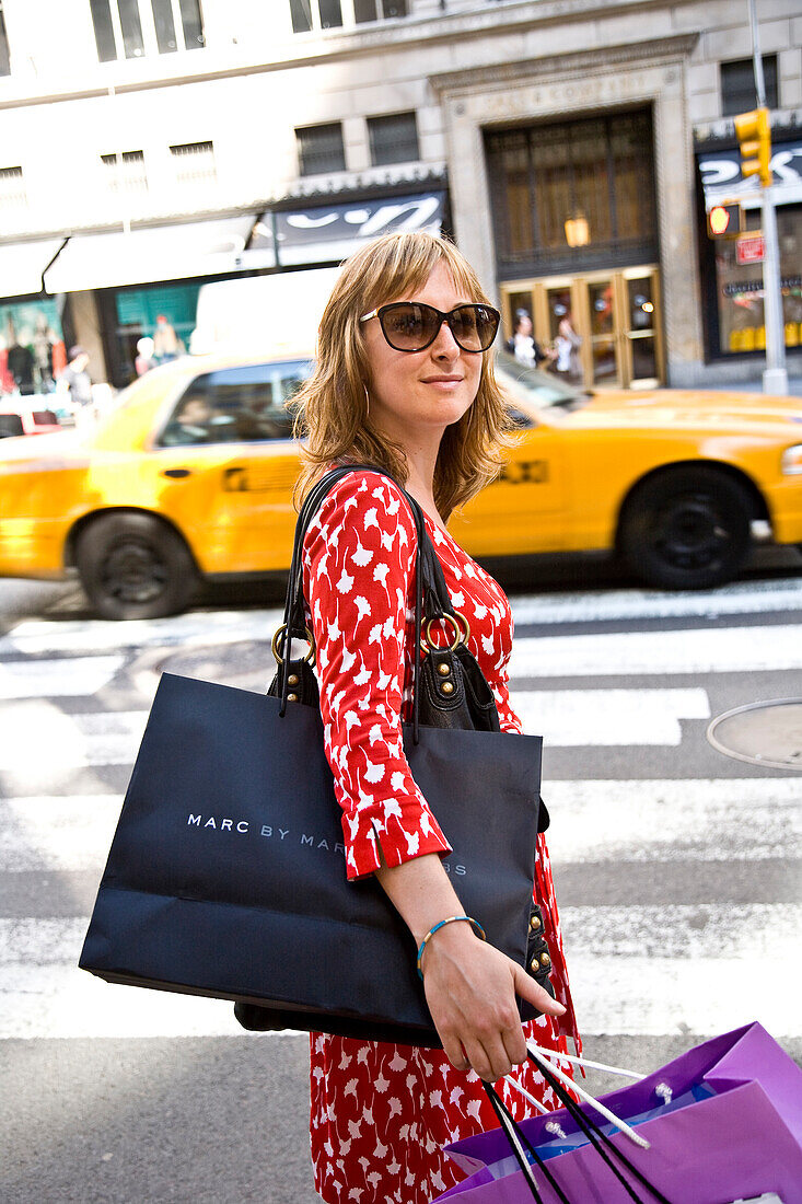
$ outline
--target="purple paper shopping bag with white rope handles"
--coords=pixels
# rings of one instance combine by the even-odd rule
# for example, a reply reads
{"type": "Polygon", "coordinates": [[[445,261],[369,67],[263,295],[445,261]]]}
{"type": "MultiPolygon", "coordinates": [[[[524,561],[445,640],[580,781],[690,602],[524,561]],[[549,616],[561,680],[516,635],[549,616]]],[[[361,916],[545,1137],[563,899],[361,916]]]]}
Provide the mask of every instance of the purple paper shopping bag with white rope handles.
{"type": "MultiPolygon", "coordinates": [[[[592,1105],[583,1104],[583,1112],[614,1134],[613,1144],[672,1204],[727,1204],[762,1192],[802,1204],[802,1070],[759,1023],[704,1041],[601,1099],[637,1128],[649,1150],[602,1122],[592,1105]]],[[[631,1204],[566,1110],[523,1121],[520,1129],[571,1204],[631,1204]],[[549,1121],[559,1122],[565,1138],[552,1137],[549,1121]]],[[[468,1178],[438,1200],[531,1204],[502,1129],[446,1151],[468,1178]]],[[[543,1204],[558,1204],[537,1168],[535,1179],[543,1204]]]]}

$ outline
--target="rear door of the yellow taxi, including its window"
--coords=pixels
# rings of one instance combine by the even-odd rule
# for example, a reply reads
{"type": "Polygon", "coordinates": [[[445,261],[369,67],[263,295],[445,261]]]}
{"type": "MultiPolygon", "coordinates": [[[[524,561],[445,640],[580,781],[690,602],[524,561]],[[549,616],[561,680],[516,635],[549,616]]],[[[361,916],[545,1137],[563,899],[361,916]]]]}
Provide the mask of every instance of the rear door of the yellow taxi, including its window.
{"type": "Polygon", "coordinates": [[[289,567],[299,458],[284,403],[309,371],[282,361],[202,373],[158,436],[158,507],[205,573],[289,567]]]}

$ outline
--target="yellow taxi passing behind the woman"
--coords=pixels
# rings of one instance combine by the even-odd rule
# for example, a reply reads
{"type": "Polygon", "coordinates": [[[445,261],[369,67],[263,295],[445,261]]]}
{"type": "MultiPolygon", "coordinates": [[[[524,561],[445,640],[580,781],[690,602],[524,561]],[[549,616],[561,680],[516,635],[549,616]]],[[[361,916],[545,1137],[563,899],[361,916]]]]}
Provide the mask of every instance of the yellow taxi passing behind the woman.
{"type": "MultiPolygon", "coordinates": [[[[802,542],[802,402],[760,394],[583,394],[501,352],[518,435],[453,515],[474,556],[608,550],[645,583],[732,578],[753,524],[802,542]]],[[[95,610],[154,618],[202,579],[289,567],[297,445],[284,403],[305,355],[187,356],[90,430],[0,442],[0,574],[77,569],[95,610]]]]}

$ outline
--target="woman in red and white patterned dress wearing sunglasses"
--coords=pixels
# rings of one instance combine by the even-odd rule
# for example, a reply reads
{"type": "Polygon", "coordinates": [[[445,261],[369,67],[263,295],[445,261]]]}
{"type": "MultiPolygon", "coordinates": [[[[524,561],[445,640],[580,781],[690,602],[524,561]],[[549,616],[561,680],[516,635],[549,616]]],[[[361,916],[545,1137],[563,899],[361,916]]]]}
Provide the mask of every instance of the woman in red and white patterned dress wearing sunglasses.
{"type": "MultiPolygon", "coordinates": [[[[476,275],[448,242],[389,235],[354,255],[326,306],[316,373],[299,397],[308,441],[300,490],[348,460],[381,465],[405,483],[425,513],[454,606],[471,625],[470,647],[494,687],[501,726],[520,731],[507,692],[507,600],[446,530],[454,507],[497,471],[506,409],[489,352],[496,329],[476,275]]],[[[303,591],[348,877],[376,874],[420,944],[462,907],[441,862],[448,843],[401,744],[414,549],[399,489],[354,471],[309,526],[303,591]]],[[[491,813],[489,798],[489,821],[491,813]]],[[[432,936],[423,957],[442,1052],[312,1034],[312,1159],[329,1204],[425,1204],[459,1182],[462,1174],[440,1147],[497,1123],[479,1076],[495,1081],[518,1067],[524,1086],[554,1105],[525,1062],[515,1008],[518,993],[543,1010],[525,1026],[541,1045],[565,1052],[564,1033],[576,1037],[548,854],[538,839],[536,892],[562,1003],[468,923],[454,922],[432,936]]],[[[509,1088],[505,1098],[521,1115],[509,1088]]]]}

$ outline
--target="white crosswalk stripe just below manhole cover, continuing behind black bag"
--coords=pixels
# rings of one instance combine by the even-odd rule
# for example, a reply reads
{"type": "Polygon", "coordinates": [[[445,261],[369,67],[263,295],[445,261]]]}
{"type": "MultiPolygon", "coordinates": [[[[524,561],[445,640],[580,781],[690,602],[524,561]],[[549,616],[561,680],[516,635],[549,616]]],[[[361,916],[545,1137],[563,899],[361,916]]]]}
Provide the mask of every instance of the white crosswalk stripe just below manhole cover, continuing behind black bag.
{"type": "MultiPolygon", "coordinates": [[[[555,866],[802,858],[795,778],[549,781],[555,866]]],[[[0,799],[0,872],[106,863],[122,795],[0,799]]]]}

